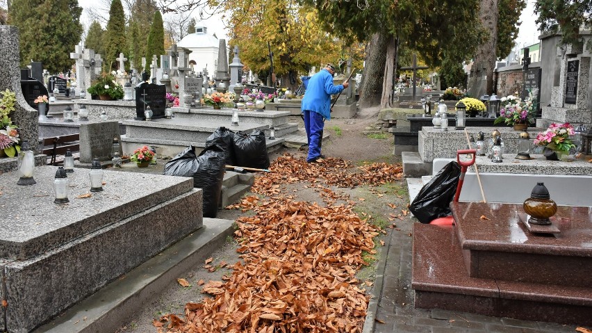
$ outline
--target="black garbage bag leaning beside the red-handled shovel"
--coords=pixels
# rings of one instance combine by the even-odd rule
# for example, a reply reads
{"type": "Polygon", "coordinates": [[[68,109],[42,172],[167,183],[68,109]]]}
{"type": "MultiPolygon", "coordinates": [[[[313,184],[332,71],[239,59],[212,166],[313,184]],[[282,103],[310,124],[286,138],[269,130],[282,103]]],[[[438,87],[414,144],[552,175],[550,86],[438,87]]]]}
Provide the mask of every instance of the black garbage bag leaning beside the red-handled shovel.
{"type": "Polygon", "coordinates": [[[422,187],[409,211],[422,223],[449,216],[450,202],[454,199],[461,177],[461,166],[452,161],[422,187]]]}

